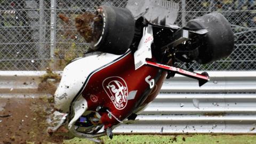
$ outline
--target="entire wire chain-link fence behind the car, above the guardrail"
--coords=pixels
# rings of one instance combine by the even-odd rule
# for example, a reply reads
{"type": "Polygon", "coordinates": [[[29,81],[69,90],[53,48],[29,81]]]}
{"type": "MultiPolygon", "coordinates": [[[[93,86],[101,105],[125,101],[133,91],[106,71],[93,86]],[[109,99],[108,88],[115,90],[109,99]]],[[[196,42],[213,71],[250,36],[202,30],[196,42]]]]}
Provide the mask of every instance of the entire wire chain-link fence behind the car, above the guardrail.
{"type": "MultiPolygon", "coordinates": [[[[125,7],[127,0],[0,0],[0,70],[61,70],[82,56],[88,44],[76,33],[75,18],[99,5],[125,7]],[[65,15],[69,21],[59,18],[65,15]]],[[[177,25],[217,11],[235,34],[235,51],[208,65],[180,65],[194,70],[256,70],[256,9],[254,0],[176,0],[177,25]]]]}

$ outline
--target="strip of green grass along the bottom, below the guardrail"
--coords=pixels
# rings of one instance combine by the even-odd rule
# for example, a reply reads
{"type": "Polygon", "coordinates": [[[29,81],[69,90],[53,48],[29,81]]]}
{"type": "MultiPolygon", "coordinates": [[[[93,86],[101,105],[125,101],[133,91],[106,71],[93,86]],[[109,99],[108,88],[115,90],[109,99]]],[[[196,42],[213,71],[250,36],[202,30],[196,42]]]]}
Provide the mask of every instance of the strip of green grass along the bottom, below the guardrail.
{"type": "MultiPolygon", "coordinates": [[[[256,143],[256,135],[210,135],[210,134],[195,134],[195,135],[114,135],[112,140],[107,137],[101,137],[101,143],[223,143],[223,144],[242,144],[256,143]]],[[[74,138],[64,141],[65,144],[82,144],[94,143],[85,139],[74,138]]]]}

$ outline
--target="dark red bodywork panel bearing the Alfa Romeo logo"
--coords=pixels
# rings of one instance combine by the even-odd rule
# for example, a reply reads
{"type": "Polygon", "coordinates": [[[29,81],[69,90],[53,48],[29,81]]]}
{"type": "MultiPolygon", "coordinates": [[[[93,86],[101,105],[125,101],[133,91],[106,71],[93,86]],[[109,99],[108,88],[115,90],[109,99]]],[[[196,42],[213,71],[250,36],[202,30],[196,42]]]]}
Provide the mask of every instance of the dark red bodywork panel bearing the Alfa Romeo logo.
{"type": "Polygon", "coordinates": [[[82,92],[88,110],[96,111],[101,106],[111,112],[111,116],[107,111],[100,112],[105,128],[118,124],[118,120],[123,121],[131,115],[138,108],[138,102],[147,105],[154,100],[162,87],[165,72],[148,66],[135,70],[133,61],[133,54],[129,53],[122,59],[113,61],[111,65],[94,71],[82,92]],[[153,87],[149,81],[154,81],[153,87]]]}

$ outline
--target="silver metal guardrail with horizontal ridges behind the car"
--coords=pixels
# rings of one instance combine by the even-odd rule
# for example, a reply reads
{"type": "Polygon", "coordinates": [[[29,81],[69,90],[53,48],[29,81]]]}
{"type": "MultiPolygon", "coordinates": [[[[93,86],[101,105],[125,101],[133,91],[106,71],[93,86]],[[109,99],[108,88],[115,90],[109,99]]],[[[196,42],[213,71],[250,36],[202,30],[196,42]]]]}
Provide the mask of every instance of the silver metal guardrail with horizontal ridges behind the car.
{"type": "MultiPolygon", "coordinates": [[[[43,74],[0,71],[0,98],[43,95],[37,91],[43,74]]],[[[167,79],[135,123],[121,124],[114,132],[256,133],[256,71],[211,71],[209,75],[211,81],[202,87],[180,75],[167,79]]]]}

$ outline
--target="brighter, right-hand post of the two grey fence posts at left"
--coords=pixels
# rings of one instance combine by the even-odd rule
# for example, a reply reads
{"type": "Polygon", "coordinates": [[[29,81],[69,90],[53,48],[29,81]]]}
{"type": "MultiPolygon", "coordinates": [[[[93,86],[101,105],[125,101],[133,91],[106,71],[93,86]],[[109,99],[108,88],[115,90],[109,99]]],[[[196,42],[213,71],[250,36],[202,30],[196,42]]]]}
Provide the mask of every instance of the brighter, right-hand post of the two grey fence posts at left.
{"type": "Polygon", "coordinates": [[[56,0],[51,0],[51,59],[54,59],[56,47],[56,0]]]}

